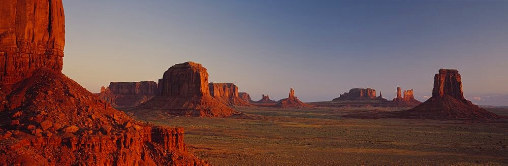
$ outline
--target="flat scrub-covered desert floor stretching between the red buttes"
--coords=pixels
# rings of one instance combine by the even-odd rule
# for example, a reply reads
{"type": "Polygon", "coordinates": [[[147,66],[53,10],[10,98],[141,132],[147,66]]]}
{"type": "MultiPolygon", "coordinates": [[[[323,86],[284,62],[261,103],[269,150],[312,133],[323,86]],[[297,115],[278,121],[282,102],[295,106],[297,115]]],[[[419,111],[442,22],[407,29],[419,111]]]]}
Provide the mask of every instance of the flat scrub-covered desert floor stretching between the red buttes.
{"type": "Polygon", "coordinates": [[[508,164],[508,122],[340,117],[376,109],[388,111],[236,107],[248,117],[136,118],[184,127],[189,151],[213,165],[508,164]]]}

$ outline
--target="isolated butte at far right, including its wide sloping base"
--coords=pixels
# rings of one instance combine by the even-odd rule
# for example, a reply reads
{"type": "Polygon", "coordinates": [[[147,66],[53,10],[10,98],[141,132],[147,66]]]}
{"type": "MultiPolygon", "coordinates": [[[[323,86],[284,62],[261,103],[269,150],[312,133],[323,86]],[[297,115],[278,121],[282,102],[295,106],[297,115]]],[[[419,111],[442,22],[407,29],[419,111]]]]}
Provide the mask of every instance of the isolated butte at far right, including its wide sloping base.
{"type": "Polygon", "coordinates": [[[398,117],[470,120],[505,118],[467,101],[462,92],[459,71],[453,69],[440,69],[434,76],[432,97],[415,108],[398,112],[398,117]]]}

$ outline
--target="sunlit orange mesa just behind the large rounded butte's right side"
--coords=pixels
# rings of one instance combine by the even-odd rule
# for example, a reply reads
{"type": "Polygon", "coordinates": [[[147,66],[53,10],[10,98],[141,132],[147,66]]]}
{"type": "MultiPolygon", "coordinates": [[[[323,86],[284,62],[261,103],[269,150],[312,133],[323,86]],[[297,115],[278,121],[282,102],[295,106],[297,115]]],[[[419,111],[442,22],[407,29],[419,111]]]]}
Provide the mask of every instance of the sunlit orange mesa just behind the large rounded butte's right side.
{"type": "Polygon", "coordinates": [[[240,98],[238,87],[232,83],[209,83],[210,95],[218,101],[230,106],[250,106],[240,98]]]}

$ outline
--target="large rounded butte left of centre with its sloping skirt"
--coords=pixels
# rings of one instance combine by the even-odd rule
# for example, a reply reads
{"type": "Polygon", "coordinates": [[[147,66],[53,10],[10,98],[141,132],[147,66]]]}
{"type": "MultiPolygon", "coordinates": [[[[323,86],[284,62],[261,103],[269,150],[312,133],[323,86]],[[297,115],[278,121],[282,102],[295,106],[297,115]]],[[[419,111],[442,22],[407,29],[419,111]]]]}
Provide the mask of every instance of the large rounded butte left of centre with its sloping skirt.
{"type": "Polygon", "coordinates": [[[163,111],[176,116],[228,117],[237,114],[210,95],[206,68],[196,62],[175,64],[164,73],[160,95],[141,104],[138,113],[163,111]]]}

